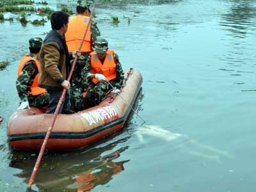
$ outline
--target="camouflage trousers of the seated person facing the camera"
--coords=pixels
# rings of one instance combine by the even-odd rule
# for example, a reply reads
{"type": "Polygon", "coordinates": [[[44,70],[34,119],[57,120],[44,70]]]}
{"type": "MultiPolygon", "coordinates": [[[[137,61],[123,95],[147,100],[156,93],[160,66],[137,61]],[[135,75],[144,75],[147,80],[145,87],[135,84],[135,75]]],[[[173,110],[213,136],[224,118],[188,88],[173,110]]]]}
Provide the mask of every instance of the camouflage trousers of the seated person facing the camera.
{"type": "MultiPolygon", "coordinates": [[[[111,83],[111,81],[109,81],[111,83]]],[[[90,107],[97,106],[102,99],[106,96],[106,93],[111,90],[111,86],[107,82],[99,82],[97,84],[90,83],[86,93],[86,102],[90,107]]]]}

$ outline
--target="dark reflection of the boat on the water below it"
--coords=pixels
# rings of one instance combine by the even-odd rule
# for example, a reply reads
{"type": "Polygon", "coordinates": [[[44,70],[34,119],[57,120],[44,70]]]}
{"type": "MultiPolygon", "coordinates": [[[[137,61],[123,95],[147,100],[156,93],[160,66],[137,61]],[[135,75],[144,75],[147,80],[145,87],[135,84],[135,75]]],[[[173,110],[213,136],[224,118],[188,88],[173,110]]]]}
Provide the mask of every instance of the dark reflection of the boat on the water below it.
{"type": "MultiPolygon", "coordinates": [[[[114,149],[128,139],[122,138],[103,147],[85,148],[66,154],[47,154],[36,175],[35,186],[40,191],[71,192],[90,191],[97,185],[108,183],[114,175],[124,171],[124,164],[130,161],[118,161],[121,153],[129,147],[114,149]]],[[[14,152],[11,159],[10,166],[21,170],[15,176],[28,182],[35,157],[14,152]]]]}

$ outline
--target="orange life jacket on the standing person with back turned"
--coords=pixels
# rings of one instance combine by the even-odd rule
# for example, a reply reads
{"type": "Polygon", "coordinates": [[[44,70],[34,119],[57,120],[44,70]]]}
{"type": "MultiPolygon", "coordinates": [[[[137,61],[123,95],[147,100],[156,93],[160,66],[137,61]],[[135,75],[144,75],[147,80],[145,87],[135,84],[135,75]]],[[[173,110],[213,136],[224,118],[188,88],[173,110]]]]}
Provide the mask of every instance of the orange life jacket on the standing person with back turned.
{"type": "MultiPolygon", "coordinates": [[[[81,40],[84,35],[84,29],[88,25],[90,17],[83,15],[76,15],[71,17],[68,22],[68,30],[65,33],[66,43],[68,46],[68,52],[77,51],[81,40]]],[[[89,26],[86,36],[84,38],[83,45],[81,47],[81,52],[91,52],[91,26],[89,26]]]]}

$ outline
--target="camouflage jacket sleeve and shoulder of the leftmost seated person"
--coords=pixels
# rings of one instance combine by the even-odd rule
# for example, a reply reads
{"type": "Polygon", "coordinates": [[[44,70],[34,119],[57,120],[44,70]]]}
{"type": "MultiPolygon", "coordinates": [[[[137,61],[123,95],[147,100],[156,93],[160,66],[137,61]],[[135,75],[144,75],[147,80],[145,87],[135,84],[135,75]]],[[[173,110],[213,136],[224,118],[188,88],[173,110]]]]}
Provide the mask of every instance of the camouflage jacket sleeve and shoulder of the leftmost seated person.
{"type": "MultiPolygon", "coordinates": [[[[34,54],[29,54],[32,58],[38,58],[34,54]]],[[[30,79],[34,79],[38,70],[34,61],[28,61],[20,72],[19,77],[16,80],[16,89],[20,97],[20,101],[28,101],[28,83],[30,79]]]]}

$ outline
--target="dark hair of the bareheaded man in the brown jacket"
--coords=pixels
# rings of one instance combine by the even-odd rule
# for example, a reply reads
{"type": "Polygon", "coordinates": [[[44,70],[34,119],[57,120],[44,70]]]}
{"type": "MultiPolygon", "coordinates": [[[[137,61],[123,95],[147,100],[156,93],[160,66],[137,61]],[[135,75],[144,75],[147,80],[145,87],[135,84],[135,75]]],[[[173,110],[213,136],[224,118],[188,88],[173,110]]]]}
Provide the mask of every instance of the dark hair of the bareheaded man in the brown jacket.
{"type": "Polygon", "coordinates": [[[53,12],[51,15],[52,29],[58,30],[62,26],[64,26],[64,24],[67,24],[68,17],[69,15],[66,12],[61,12],[61,11],[53,12]]]}

